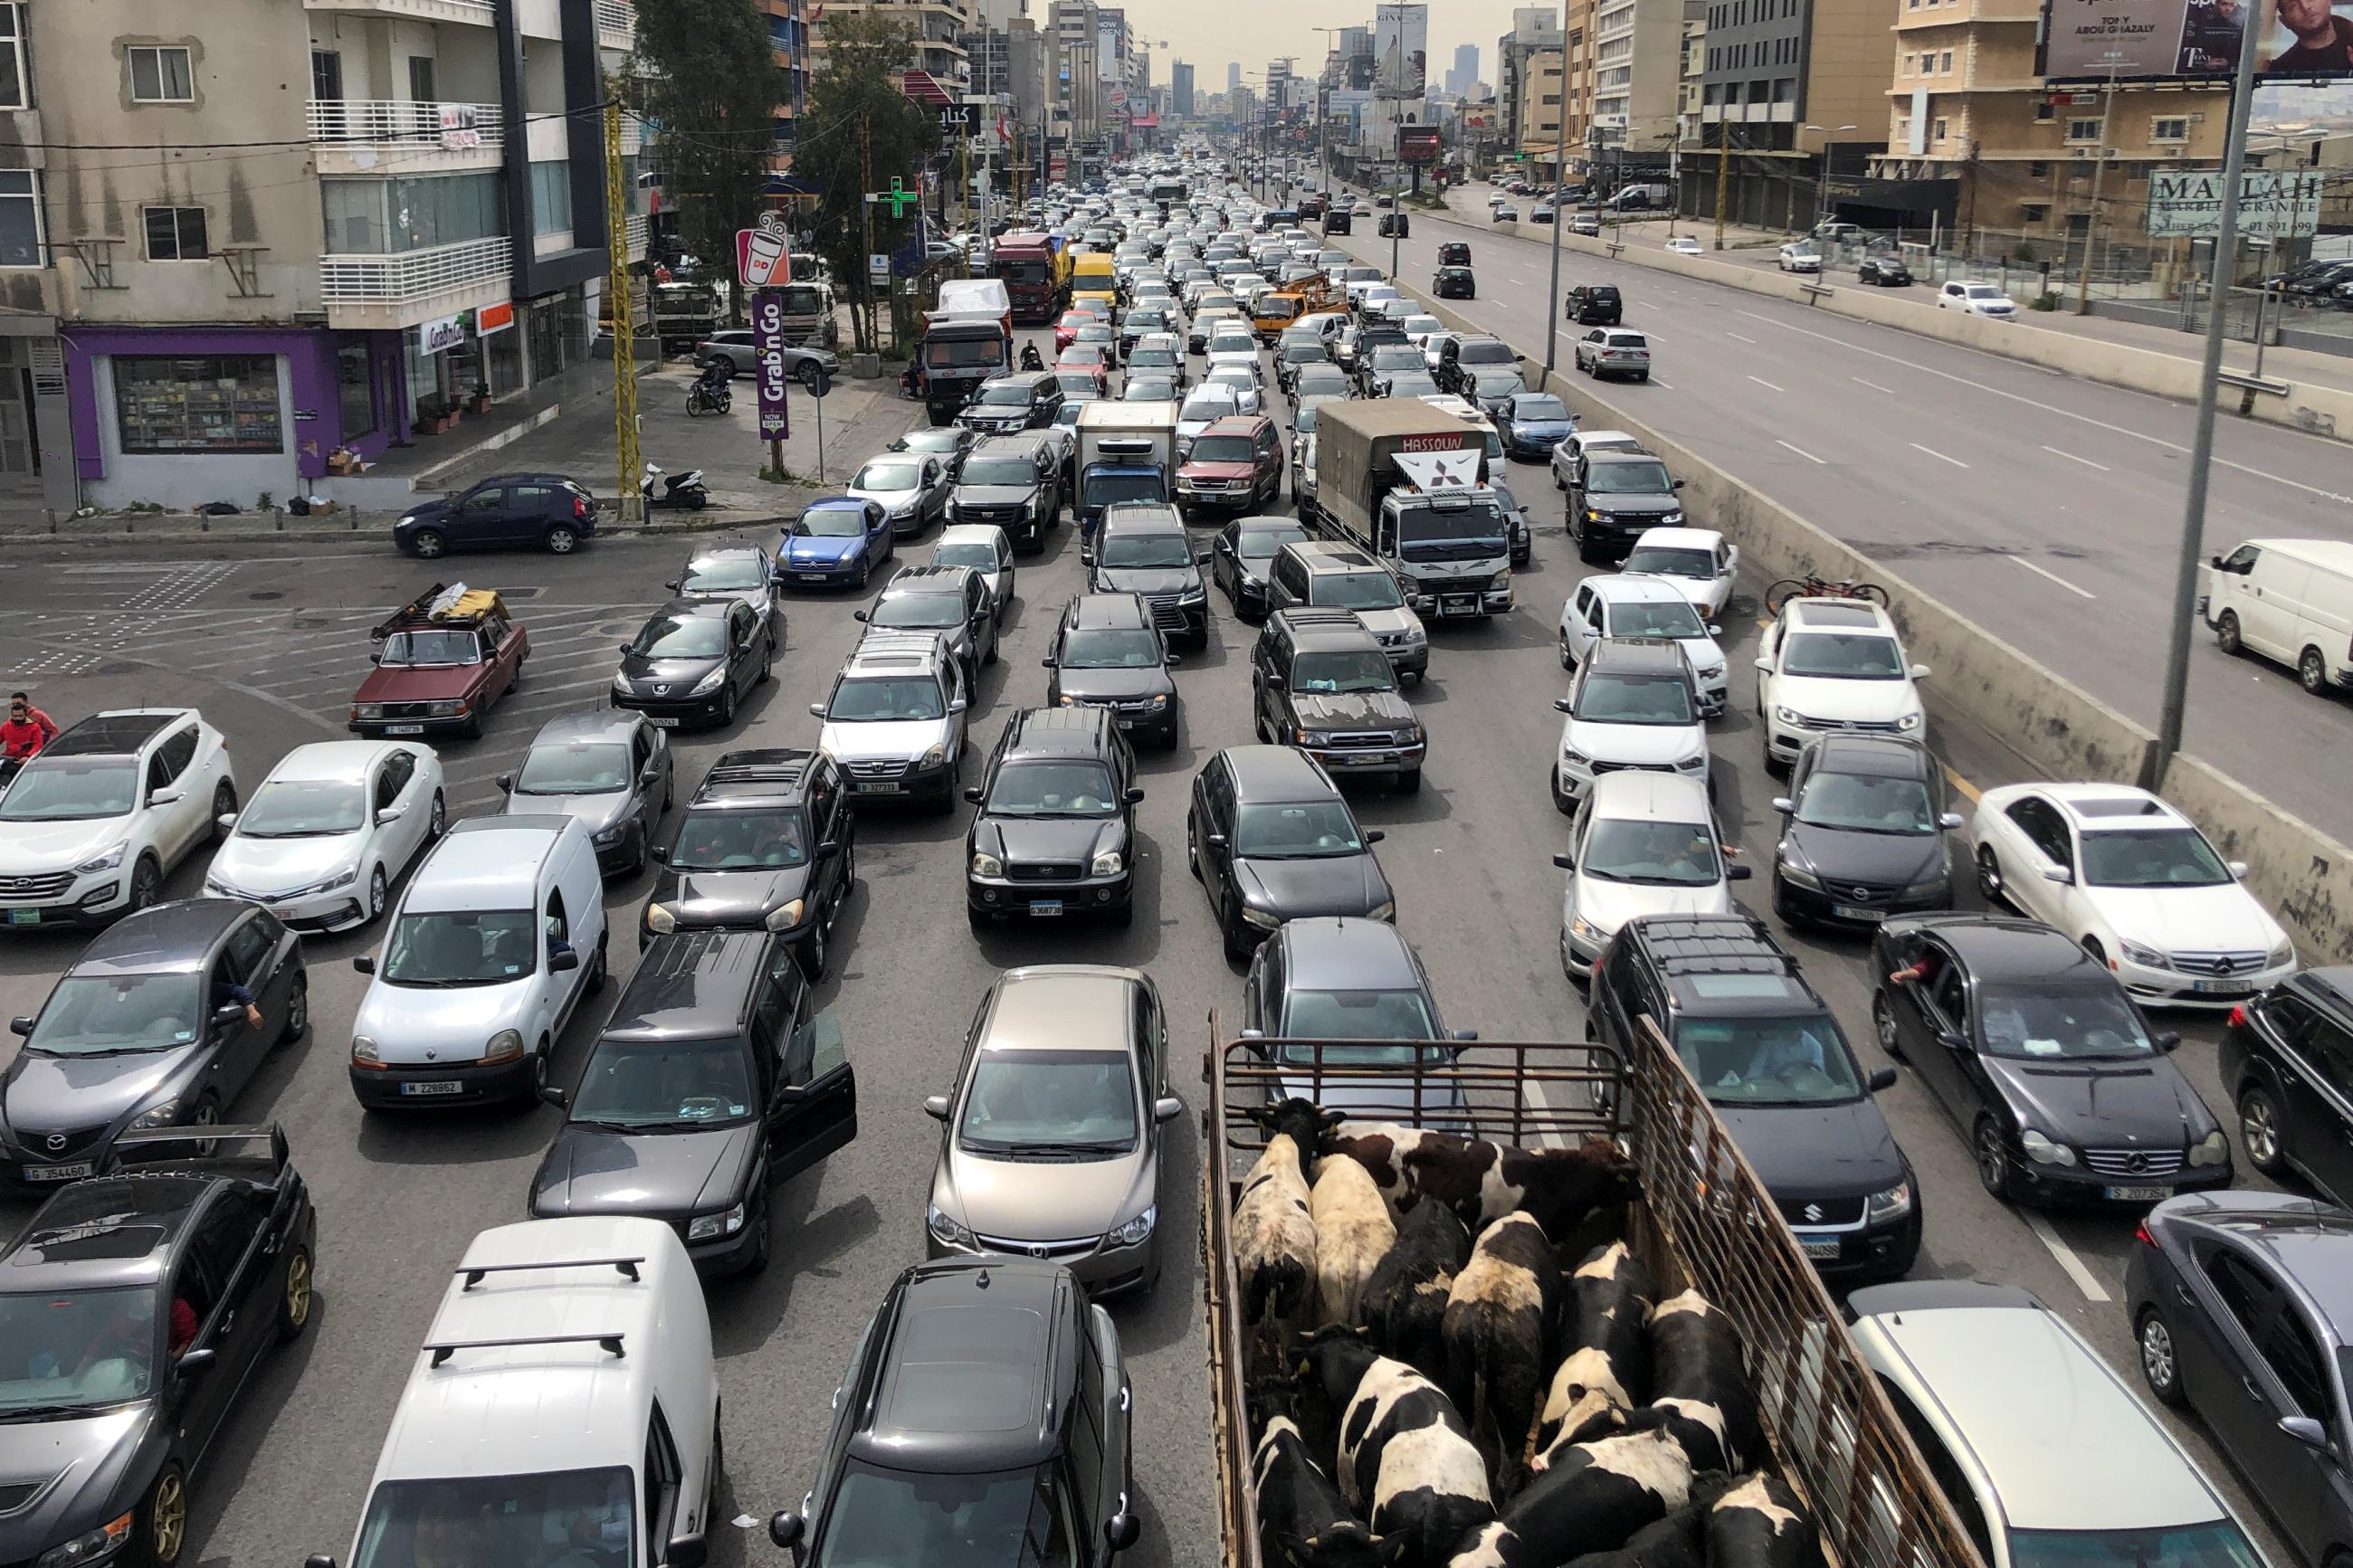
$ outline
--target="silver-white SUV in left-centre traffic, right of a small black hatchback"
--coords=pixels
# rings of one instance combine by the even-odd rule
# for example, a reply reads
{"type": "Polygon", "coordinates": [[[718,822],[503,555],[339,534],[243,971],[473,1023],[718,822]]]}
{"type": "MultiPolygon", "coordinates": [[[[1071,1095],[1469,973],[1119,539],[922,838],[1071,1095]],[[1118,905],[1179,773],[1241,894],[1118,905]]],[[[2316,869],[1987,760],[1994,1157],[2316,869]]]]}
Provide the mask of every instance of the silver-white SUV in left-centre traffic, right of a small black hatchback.
{"type": "Polygon", "coordinates": [[[824,719],[816,748],[849,773],[849,797],[922,797],[955,811],[965,762],[965,665],[939,632],[859,637],[833,691],[809,712],[824,719]]]}

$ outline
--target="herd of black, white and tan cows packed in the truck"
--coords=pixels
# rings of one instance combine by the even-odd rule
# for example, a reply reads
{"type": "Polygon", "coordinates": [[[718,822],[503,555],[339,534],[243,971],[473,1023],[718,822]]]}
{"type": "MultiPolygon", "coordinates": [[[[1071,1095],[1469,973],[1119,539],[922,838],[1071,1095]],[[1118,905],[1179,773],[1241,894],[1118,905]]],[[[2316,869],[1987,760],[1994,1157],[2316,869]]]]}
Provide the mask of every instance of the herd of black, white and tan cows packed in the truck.
{"type": "Polygon", "coordinates": [[[1233,1211],[1252,1488],[1289,1568],[1819,1568],[1739,1333],[1659,1300],[1593,1138],[1515,1150],[1247,1112],[1233,1211]],[[1574,1262],[1569,1262],[1574,1260],[1574,1262]]]}

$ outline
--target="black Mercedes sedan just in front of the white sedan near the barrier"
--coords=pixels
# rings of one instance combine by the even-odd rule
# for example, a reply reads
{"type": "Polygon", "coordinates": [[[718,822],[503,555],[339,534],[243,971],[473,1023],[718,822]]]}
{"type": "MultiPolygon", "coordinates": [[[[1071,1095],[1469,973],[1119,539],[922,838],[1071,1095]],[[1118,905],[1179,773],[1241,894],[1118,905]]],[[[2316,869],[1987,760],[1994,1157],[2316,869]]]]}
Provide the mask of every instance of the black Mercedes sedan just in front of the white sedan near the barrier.
{"type": "Polygon", "coordinates": [[[2231,1140],[2106,964],[2000,914],[1908,914],[1871,943],[1871,1020],[2005,1201],[2155,1204],[2231,1185],[2231,1140]],[[1904,973],[1897,983],[1892,976],[1904,973]]]}

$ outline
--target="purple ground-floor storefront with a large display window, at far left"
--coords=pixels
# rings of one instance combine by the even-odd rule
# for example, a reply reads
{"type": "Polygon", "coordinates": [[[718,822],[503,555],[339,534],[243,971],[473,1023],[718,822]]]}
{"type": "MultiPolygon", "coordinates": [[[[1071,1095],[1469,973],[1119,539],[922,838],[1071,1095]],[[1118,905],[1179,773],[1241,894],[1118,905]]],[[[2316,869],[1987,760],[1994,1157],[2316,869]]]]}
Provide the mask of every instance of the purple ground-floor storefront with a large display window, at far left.
{"type": "Polygon", "coordinates": [[[278,505],[327,454],[409,437],[398,331],[68,329],[73,458],[92,505],[278,505]]]}

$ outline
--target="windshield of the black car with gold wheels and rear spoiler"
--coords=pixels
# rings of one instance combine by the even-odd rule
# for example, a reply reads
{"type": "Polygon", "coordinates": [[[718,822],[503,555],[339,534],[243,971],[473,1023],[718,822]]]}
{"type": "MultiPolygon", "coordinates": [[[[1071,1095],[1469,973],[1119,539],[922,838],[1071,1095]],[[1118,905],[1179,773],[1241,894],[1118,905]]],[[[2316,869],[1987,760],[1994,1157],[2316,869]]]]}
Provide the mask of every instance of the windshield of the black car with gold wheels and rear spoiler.
{"type": "MultiPolygon", "coordinates": [[[[92,1239],[92,1246],[104,1241],[92,1239]]],[[[73,1255],[71,1244],[35,1251],[73,1255]]],[[[85,1410],[146,1399],[162,1349],[155,1286],[0,1295],[0,1345],[7,1347],[0,1354],[7,1368],[0,1373],[0,1420],[12,1410],[85,1410]]]]}

